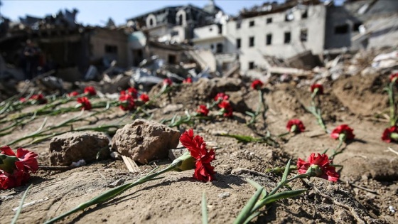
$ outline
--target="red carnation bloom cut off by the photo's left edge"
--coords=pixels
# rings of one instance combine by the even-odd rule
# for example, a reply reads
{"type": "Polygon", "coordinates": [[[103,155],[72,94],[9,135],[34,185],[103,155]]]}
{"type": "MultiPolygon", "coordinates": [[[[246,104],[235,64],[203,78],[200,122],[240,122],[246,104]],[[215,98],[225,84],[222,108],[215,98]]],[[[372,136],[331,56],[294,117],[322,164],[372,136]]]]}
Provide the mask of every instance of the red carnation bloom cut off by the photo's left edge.
{"type": "Polygon", "coordinates": [[[14,154],[9,146],[0,147],[0,151],[0,189],[21,186],[28,181],[29,172],[38,170],[38,154],[33,151],[18,148],[14,154]]]}

